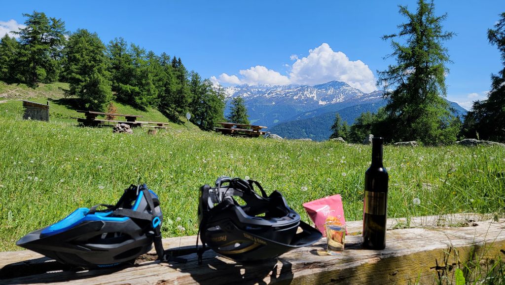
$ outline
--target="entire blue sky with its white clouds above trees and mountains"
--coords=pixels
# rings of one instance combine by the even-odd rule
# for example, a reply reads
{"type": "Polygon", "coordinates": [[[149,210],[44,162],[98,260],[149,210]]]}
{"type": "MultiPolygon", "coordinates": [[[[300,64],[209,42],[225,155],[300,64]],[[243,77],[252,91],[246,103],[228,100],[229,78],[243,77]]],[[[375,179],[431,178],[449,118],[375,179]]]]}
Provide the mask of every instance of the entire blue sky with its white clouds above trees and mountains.
{"type": "MultiPolygon", "coordinates": [[[[470,109],[486,98],[491,73],[503,68],[487,40],[505,1],[435,1],[435,14],[456,36],[443,43],[447,99],[470,109]]],[[[188,70],[224,86],[307,84],[339,80],[363,92],[377,90],[377,72],[394,64],[384,34],[398,31],[416,1],[6,1],[0,36],[23,27],[23,13],[61,18],[67,30],[96,32],[180,57],[188,70]]]]}

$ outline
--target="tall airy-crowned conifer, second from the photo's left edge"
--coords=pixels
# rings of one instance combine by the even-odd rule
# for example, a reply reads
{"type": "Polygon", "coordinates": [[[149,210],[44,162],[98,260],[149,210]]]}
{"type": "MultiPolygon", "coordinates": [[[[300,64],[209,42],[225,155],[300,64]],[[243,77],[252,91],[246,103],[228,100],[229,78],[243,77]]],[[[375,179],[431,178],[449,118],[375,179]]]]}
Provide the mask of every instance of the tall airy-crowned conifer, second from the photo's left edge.
{"type": "Polygon", "coordinates": [[[36,11],[23,16],[27,17],[26,27],[16,32],[22,45],[19,67],[23,79],[31,84],[58,80],[67,34],[65,22],[36,11]]]}

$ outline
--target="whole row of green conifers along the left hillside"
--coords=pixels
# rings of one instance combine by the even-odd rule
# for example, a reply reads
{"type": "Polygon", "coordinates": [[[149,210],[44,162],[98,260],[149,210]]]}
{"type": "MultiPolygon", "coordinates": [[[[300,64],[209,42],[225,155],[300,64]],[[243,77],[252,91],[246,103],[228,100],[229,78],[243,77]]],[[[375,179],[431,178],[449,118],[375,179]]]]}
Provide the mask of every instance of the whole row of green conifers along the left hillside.
{"type": "Polygon", "coordinates": [[[172,121],[186,112],[201,129],[224,119],[224,96],[208,79],[188,71],[180,57],[128,43],[105,44],[85,28],[67,31],[62,19],[34,11],[23,15],[18,38],[0,40],[0,80],[8,84],[68,83],[65,95],[79,108],[104,110],[116,100],[139,110],[156,108],[172,121]]]}

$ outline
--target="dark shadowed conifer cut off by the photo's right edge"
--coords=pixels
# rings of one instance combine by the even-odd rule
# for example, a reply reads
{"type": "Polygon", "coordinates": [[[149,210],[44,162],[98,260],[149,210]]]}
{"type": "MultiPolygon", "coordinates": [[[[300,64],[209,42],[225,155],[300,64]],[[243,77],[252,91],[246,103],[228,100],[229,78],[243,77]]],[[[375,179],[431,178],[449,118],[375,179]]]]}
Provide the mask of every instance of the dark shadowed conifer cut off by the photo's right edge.
{"type": "Polygon", "coordinates": [[[501,13],[494,29],[487,30],[489,44],[496,45],[501,54],[503,69],[491,74],[488,98],[473,103],[467,113],[462,133],[466,137],[505,142],[505,12],[501,13]]]}

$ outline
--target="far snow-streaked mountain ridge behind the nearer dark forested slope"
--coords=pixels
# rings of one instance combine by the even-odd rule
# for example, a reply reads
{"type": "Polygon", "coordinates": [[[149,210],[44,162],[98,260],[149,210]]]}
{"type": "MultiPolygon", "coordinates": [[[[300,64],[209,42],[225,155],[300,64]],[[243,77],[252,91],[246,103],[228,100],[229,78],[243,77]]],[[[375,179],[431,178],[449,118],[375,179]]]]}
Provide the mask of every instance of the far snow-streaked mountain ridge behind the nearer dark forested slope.
{"type": "Polygon", "coordinates": [[[382,100],[380,91],[366,94],[338,81],[315,86],[244,84],[226,87],[225,92],[227,99],[243,97],[249,120],[262,126],[273,126],[324,106],[334,104],[353,106],[382,100]]]}

